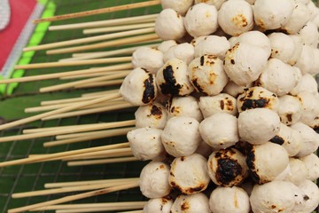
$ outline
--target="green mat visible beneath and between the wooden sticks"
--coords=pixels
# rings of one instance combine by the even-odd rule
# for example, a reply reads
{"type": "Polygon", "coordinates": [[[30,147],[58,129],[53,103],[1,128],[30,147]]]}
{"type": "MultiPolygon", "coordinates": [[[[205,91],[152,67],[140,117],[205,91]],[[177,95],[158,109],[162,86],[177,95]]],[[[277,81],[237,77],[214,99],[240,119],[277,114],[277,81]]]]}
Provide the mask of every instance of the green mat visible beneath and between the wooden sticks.
{"type": "MultiPolygon", "coordinates": [[[[81,12],[84,10],[97,9],[100,7],[108,7],[117,4],[130,4],[135,2],[142,2],[141,0],[51,0],[57,5],[56,14],[65,14],[68,12],[81,12]]],[[[142,15],[148,13],[159,12],[159,6],[152,6],[143,9],[134,9],[124,12],[113,12],[102,14],[98,16],[85,17],[76,20],[65,20],[52,23],[52,25],[76,23],[82,21],[92,20],[110,20],[121,17],[142,15]]],[[[35,34],[37,32],[35,31],[35,34]]],[[[57,41],[64,41],[68,39],[81,38],[82,30],[66,30],[66,31],[49,31],[43,37],[43,43],[52,43],[57,41]]],[[[106,49],[104,49],[106,50],[106,49]]],[[[98,50],[97,50],[98,51],[98,50]]],[[[31,57],[25,54],[24,57],[31,57]]],[[[64,55],[51,55],[47,56],[45,51],[35,52],[31,63],[57,61],[58,59],[70,57],[70,54],[64,55]]],[[[22,58],[23,59],[23,58],[22,58]]],[[[98,67],[98,66],[97,66],[98,67]]],[[[45,68],[27,70],[25,75],[39,75],[49,74],[61,71],[76,70],[85,67],[66,67],[66,68],[45,68]]],[[[35,83],[19,83],[11,96],[0,96],[0,116],[6,121],[11,121],[31,114],[23,112],[25,107],[39,106],[40,101],[49,99],[71,98],[79,96],[83,92],[101,91],[102,89],[95,90],[78,90],[78,91],[60,91],[49,94],[39,94],[38,90],[41,87],[53,85],[58,83],[58,80],[40,81],[35,83]]],[[[110,88],[104,88],[107,90],[110,88]]],[[[49,127],[49,126],[62,126],[72,125],[75,123],[94,123],[94,122],[113,122],[132,119],[132,110],[121,111],[121,113],[105,113],[105,114],[92,114],[81,117],[72,117],[62,120],[54,120],[48,122],[33,122],[28,124],[29,127],[49,127]]],[[[13,130],[0,131],[0,137],[17,135],[21,132],[22,127],[13,130]]],[[[0,161],[8,161],[26,157],[28,154],[45,154],[56,153],[66,150],[74,150],[89,146],[101,146],[106,144],[113,144],[117,142],[126,141],[125,137],[116,137],[108,139],[99,139],[94,141],[87,141],[66,146],[57,146],[52,148],[43,148],[43,142],[49,141],[53,138],[39,138],[33,140],[13,141],[9,143],[0,144],[0,161]]],[[[76,181],[76,180],[89,180],[101,179],[111,177],[138,177],[142,169],[143,162],[128,162],[116,163],[107,165],[96,165],[86,167],[67,167],[65,162],[43,162],[35,164],[27,164],[23,166],[13,166],[0,169],[0,212],[6,212],[8,209],[21,207],[28,204],[33,204],[41,201],[48,201],[56,199],[66,194],[40,196],[25,199],[11,199],[12,193],[27,192],[33,190],[43,189],[45,183],[61,182],[61,181],[76,181]]],[[[68,193],[69,194],[69,193],[68,193]]],[[[144,200],[141,193],[136,190],[128,190],[120,193],[111,193],[98,197],[85,199],[81,202],[101,202],[101,201],[142,201],[144,200]]],[[[48,211],[49,212],[49,211],[48,211]]]]}

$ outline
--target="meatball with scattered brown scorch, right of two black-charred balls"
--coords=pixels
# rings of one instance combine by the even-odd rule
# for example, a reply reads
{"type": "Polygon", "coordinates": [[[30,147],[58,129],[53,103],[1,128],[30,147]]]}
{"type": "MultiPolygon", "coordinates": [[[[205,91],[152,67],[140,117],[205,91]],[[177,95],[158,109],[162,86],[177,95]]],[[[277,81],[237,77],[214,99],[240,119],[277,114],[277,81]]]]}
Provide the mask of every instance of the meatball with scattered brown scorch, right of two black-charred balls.
{"type": "Polygon", "coordinates": [[[195,90],[206,95],[217,95],[226,86],[228,77],[222,60],[213,55],[204,55],[191,61],[188,75],[195,90]]]}

